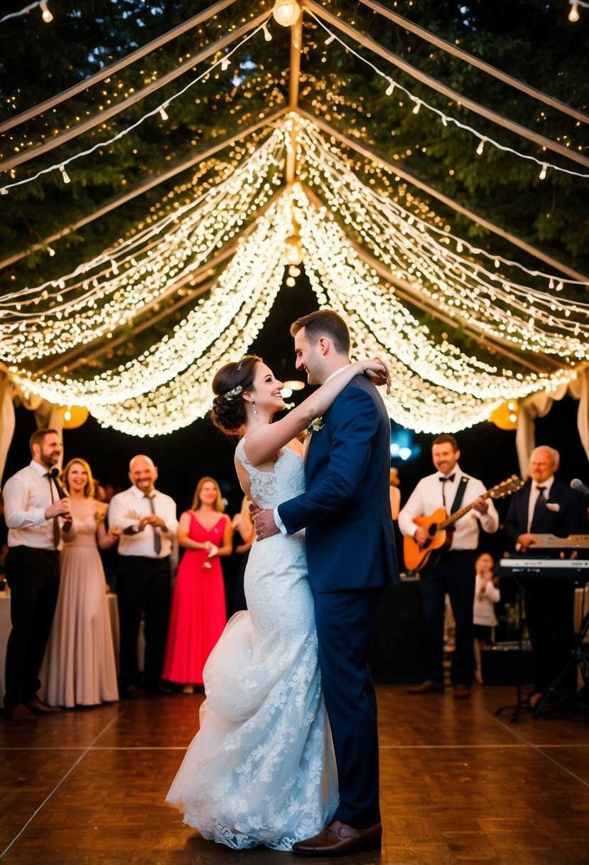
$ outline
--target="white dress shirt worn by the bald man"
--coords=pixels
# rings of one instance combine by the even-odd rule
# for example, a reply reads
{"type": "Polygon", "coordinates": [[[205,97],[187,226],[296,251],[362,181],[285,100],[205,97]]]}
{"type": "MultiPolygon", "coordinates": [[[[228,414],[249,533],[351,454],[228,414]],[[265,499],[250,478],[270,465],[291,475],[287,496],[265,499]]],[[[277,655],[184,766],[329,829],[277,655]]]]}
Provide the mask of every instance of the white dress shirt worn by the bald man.
{"type": "Polygon", "coordinates": [[[146,525],[142,531],[139,531],[139,522],[144,516],[151,514],[151,506],[149,497],[136,486],[112,497],[108,515],[109,528],[123,531],[118,541],[119,555],[141,555],[147,559],[164,559],[171,553],[172,541],[178,530],[176,503],[173,498],[159,490],[153,490],[151,498],[155,514],[161,516],[166,524],[165,529],[146,525]],[[155,532],[158,532],[161,537],[159,555],[155,553],[155,532]]]}

